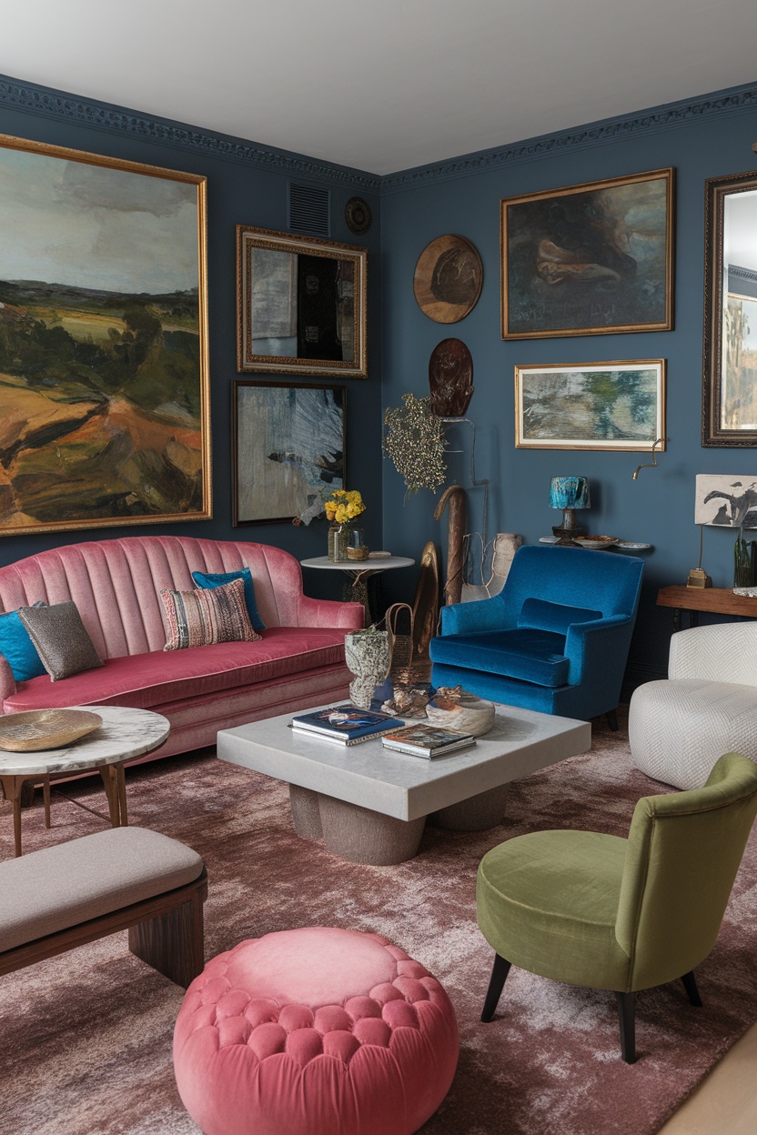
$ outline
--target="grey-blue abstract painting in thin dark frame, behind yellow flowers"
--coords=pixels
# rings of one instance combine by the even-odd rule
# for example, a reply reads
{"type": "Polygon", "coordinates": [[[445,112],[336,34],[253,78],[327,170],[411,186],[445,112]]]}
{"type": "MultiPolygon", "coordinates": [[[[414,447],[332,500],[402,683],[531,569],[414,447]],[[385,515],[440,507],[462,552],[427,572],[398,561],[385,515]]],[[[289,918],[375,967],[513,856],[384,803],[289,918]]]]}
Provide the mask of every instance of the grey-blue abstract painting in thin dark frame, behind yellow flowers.
{"type": "Polygon", "coordinates": [[[344,488],[345,387],[235,379],[234,527],[322,512],[344,488]]]}

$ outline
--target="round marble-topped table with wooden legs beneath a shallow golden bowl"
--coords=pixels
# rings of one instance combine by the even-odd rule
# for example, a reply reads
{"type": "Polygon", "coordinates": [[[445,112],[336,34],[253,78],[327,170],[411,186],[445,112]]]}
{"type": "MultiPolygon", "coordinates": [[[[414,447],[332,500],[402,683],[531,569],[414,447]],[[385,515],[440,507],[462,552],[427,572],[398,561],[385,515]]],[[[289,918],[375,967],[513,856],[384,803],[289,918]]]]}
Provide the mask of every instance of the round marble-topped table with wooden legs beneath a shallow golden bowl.
{"type": "Polygon", "coordinates": [[[79,741],[62,749],[37,753],[7,753],[0,749],[0,783],[7,800],[14,806],[16,856],[22,854],[22,787],[25,781],[43,781],[45,789],[44,822],[50,827],[50,779],[95,770],[102,777],[112,827],[128,824],[124,764],[151,753],[162,745],[170,732],[167,717],[150,709],[127,706],[68,706],[86,709],[102,717],[102,725],[79,741]]]}

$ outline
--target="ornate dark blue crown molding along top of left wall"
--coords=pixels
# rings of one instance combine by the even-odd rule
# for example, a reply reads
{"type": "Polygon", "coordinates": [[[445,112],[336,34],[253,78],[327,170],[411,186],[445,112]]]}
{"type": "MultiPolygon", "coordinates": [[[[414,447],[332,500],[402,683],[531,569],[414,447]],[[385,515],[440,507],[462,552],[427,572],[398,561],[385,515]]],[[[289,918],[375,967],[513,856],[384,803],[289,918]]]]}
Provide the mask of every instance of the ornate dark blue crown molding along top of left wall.
{"type": "Polygon", "coordinates": [[[224,134],[192,129],[136,111],[111,107],[104,102],[87,101],[61,91],[23,84],[5,76],[0,76],[0,108],[2,107],[45,118],[65,119],[115,134],[129,134],[150,142],[159,142],[161,145],[171,145],[178,150],[222,158],[245,166],[258,166],[289,177],[347,185],[367,193],[380,192],[381,179],[373,174],[363,174],[360,170],[330,166],[283,151],[268,150],[224,134]]]}

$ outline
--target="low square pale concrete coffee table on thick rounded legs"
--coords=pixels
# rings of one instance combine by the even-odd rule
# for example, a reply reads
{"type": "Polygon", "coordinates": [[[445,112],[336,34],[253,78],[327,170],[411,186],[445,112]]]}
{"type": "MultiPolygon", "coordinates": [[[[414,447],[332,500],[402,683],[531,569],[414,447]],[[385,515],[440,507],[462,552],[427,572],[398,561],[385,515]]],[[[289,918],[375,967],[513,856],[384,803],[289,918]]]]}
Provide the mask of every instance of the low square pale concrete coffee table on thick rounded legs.
{"type": "Polygon", "coordinates": [[[456,831],[502,822],[507,787],[586,753],[591,725],[498,706],[494,728],[471,749],[426,760],[385,749],[380,738],[342,746],[289,728],[292,714],[221,730],[221,760],[289,784],[295,831],[323,839],[352,863],[411,859],[427,818],[456,831]]]}

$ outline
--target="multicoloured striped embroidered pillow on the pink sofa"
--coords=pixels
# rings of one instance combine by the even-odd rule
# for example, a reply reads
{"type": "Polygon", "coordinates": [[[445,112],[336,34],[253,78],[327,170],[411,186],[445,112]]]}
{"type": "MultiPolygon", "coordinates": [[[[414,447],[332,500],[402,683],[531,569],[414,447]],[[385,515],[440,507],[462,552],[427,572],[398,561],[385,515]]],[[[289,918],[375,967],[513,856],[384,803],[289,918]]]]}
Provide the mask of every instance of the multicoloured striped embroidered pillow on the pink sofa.
{"type": "Polygon", "coordinates": [[[212,591],[171,591],[160,598],[166,612],[167,642],[163,650],[185,650],[216,642],[258,642],[244,602],[244,582],[235,579],[212,591]]]}

